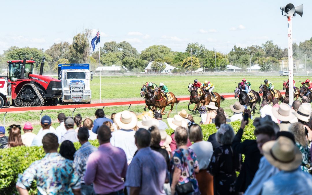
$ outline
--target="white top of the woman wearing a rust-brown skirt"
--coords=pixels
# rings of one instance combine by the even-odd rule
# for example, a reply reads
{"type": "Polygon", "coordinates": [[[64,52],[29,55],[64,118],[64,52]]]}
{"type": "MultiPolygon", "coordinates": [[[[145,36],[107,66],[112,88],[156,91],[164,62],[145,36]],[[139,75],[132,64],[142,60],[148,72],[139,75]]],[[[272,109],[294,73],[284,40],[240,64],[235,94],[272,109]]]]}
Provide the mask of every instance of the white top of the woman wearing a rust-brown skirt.
{"type": "Polygon", "coordinates": [[[211,142],[200,141],[196,142],[189,147],[194,151],[197,156],[197,161],[199,163],[199,170],[207,169],[210,159],[213,154],[213,148],[211,142]]]}

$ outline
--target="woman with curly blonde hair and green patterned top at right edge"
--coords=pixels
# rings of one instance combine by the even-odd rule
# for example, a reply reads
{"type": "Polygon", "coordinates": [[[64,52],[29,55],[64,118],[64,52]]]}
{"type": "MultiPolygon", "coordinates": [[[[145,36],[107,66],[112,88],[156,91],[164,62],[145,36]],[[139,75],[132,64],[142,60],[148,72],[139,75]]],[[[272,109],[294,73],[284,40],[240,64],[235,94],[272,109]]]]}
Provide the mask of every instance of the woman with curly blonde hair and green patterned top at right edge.
{"type": "Polygon", "coordinates": [[[289,131],[294,134],[296,146],[302,153],[301,170],[307,173],[311,172],[311,154],[308,147],[305,125],[300,122],[291,124],[289,131]]]}

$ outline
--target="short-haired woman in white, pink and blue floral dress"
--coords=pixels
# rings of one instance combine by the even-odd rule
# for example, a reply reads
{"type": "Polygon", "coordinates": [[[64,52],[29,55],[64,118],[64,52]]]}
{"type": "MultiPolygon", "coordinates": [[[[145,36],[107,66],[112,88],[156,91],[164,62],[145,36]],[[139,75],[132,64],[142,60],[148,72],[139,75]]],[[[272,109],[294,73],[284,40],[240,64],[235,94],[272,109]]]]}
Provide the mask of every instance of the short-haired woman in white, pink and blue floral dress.
{"type": "Polygon", "coordinates": [[[184,127],[178,127],[175,130],[174,139],[176,140],[178,149],[173,151],[173,158],[171,161],[172,169],[172,184],[171,194],[176,195],[176,186],[191,182],[193,192],[187,195],[199,195],[198,183],[195,173],[199,172],[199,166],[196,159],[196,154],[192,149],[186,145],[188,142],[188,130],[184,127]]]}

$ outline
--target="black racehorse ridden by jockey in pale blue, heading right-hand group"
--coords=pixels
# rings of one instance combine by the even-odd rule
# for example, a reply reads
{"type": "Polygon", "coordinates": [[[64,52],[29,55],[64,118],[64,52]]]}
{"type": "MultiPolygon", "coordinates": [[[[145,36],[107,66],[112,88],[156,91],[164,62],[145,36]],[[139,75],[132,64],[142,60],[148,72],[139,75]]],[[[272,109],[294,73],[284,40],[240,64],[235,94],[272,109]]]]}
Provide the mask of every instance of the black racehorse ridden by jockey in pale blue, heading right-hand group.
{"type": "Polygon", "coordinates": [[[261,97],[259,95],[259,93],[257,93],[254,90],[251,90],[249,93],[254,94],[254,96],[256,97],[256,100],[253,102],[250,102],[250,98],[248,97],[248,95],[246,93],[244,93],[242,91],[242,89],[240,87],[236,87],[236,89],[234,90],[234,97],[237,98],[239,97],[238,101],[241,105],[246,105],[246,106],[250,106],[251,112],[253,111],[253,116],[255,116],[255,111],[257,110],[256,108],[256,103],[258,103],[260,105],[261,103],[261,97]]]}

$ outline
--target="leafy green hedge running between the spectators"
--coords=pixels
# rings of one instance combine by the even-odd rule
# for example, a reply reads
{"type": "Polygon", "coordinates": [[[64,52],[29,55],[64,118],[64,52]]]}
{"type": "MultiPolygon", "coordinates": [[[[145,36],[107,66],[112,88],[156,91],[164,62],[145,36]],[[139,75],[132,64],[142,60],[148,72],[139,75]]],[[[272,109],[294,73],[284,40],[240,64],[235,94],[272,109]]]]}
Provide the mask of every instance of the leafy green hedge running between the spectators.
{"type": "MultiPolygon", "coordinates": [[[[235,132],[238,131],[241,122],[236,121],[231,123],[235,132]]],[[[207,140],[209,135],[217,131],[214,124],[201,125],[202,132],[204,134],[204,140],[207,140]]],[[[246,126],[244,139],[256,139],[253,134],[254,126],[252,121],[246,126]]],[[[167,130],[168,134],[173,132],[172,129],[167,130]]],[[[96,147],[99,146],[97,140],[90,141],[90,143],[96,147]]],[[[79,149],[80,144],[74,143],[75,148],[79,149]]],[[[0,149],[0,194],[17,194],[15,190],[15,184],[19,173],[23,173],[24,170],[34,161],[39,160],[45,156],[45,152],[42,147],[15,147],[9,149],[0,149]]],[[[29,190],[30,194],[37,194],[36,184],[33,183],[32,188],[29,190]]]]}

